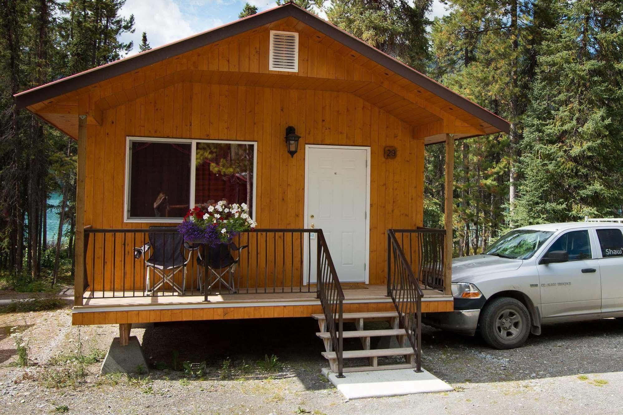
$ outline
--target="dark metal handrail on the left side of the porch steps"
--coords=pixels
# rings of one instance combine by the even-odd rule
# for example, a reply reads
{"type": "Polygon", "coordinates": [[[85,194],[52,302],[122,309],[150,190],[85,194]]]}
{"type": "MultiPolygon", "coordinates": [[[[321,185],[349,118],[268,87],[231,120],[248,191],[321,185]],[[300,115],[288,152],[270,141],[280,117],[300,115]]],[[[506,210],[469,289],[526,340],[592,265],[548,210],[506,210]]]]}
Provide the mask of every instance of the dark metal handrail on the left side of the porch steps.
{"type": "Polygon", "coordinates": [[[318,299],[325,313],[326,328],[331,333],[331,343],[338,360],[337,377],[343,378],[344,291],[342,290],[340,279],[338,279],[333,259],[331,259],[325,235],[322,229],[318,229],[317,233],[316,282],[318,285],[318,299]]]}

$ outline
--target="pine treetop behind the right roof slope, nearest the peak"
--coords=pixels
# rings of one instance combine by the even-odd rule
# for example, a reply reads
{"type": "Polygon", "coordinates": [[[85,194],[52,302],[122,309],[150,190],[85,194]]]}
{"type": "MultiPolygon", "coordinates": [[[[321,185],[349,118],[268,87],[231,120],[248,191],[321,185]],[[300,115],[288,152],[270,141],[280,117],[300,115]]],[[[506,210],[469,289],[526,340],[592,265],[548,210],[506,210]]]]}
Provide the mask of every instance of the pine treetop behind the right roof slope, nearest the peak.
{"type": "Polygon", "coordinates": [[[328,20],[388,55],[424,72],[429,62],[426,14],[432,0],[335,0],[328,20]]]}

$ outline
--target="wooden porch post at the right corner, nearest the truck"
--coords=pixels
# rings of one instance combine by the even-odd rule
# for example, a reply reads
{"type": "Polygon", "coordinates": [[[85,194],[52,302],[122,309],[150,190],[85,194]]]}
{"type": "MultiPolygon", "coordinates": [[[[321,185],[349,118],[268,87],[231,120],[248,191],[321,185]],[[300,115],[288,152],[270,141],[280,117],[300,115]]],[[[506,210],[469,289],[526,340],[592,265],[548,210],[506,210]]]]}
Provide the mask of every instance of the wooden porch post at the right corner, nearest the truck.
{"type": "Polygon", "coordinates": [[[445,135],[444,293],[452,295],[452,211],[454,203],[454,134],[445,135]]]}

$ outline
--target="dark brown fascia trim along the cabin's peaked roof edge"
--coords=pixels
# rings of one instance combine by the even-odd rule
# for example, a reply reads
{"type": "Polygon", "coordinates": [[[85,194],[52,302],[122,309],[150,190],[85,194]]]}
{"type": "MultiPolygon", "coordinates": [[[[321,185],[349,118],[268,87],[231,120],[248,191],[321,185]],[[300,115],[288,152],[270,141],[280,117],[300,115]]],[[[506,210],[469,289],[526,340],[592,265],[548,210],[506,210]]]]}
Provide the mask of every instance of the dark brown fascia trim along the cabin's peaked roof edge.
{"type": "Polygon", "coordinates": [[[125,59],[111,62],[84,72],[80,72],[54,82],[46,83],[40,87],[32,88],[15,95],[17,108],[25,108],[35,103],[43,102],[50,98],[58,97],[65,93],[74,92],[80,88],[88,87],[94,83],[112,79],[118,75],[126,74],[136,69],[156,64],[162,60],[169,59],[176,55],[198,49],[209,44],[223,41],[232,36],[242,34],[260,26],[270,24],[272,22],[293,17],[307,26],[312,27],[318,32],[331,37],[336,42],[340,42],[346,47],[354,50],[358,54],[376,62],[377,64],[391,70],[395,74],[409,80],[416,85],[437,95],[437,97],[451,103],[457,108],[472,114],[474,117],[497,128],[499,131],[508,133],[510,130],[509,123],[498,115],[481,107],[467,98],[453,92],[444,85],[427,77],[421,72],[412,69],[397,59],[384,54],[380,50],[366,44],[358,38],[352,36],[348,32],[341,30],[330,22],[312,14],[305,9],[297,6],[292,2],[288,2],[283,6],[278,6],[264,12],[254,14],[244,19],[240,19],[224,26],[216,27],[209,31],[201,32],[186,39],[181,39],[167,45],[156,47],[146,52],[141,52],[125,59]]]}

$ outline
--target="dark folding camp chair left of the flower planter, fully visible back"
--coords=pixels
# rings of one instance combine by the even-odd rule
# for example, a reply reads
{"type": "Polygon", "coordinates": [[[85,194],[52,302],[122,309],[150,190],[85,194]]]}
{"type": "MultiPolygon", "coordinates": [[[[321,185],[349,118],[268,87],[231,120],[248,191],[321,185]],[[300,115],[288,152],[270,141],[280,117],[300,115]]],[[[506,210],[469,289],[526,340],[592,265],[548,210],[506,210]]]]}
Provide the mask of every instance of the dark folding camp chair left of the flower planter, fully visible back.
{"type": "Polygon", "coordinates": [[[135,259],[143,258],[147,269],[145,277],[145,295],[151,295],[155,290],[162,287],[165,283],[171,285],[180,295],[184,295],[186,289],[186,265],[191,259],[192,252],[184,258],[182,246],[188,251],[196,250],[184,243],[184,238],[179,232],[157,232],[157,229],[175,229],[172,227],[150,226],[155,232],[149,232],[150,239],[142,247],[134,249],[135,259]],[[147,252],[151,249],[151,256],[146,259],[147,252]],[[178,271],[183,272],[182,286],[174,281],[174,276],[178,271]],[[158,282],[150,288],[151,272],[159,277],[158,282]]]}

